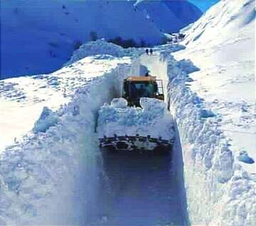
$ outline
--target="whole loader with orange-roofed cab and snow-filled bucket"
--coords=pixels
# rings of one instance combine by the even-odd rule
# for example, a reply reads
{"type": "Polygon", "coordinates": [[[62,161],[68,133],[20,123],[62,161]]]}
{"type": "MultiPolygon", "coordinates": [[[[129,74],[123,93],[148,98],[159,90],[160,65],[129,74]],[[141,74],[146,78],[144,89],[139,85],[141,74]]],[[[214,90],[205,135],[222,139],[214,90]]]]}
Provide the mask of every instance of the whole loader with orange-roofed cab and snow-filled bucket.
{"type": "Polygon", "coordinates": [[[127,77],[122,90],[121,98],[100,109],[100,147],[112,151],[170,151],[174,123],[164,102],[162,80],[154,76],[127,77]]]}

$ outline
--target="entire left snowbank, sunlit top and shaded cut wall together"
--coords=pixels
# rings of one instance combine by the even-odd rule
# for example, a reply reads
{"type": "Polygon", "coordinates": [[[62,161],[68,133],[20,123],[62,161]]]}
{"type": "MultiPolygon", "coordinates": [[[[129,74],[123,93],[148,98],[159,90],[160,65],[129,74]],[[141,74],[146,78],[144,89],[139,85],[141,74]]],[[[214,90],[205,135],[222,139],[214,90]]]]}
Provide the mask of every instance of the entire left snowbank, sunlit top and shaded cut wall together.
{"type": "MultiPolygon", "coordinates": [[[[1,225],[85,225],[98,208],[99,180],[105,180],[95,137],[97,111],[104,102],[119,96],[119,84],[130,72],[129,63],[129,58],[102,55],[100,59],[82,59],[50,75],[11,79],[13,86],[8,86],[10,80],[2,82],[1,99],[16,102],[16,113],[22,108],[38,112],[43,106],[56,111],[44,107],[35,127],[1,153],[1,225]],[[23,91],[20,104],[20,98],[11,95],[17,94],[16,90],[23,91]],[[41,99],[38,107],[35,97],[46,99],[41,99]]],[[[18,115],[9,117],[16,119],[18,115]]],[[[31,118],[32,122],[36,115],[31,118]]],[[[1,124],[3,134],[5,128],[1,124]]],[[[16,136],[16,129],[13,131],[16,136]]]]}

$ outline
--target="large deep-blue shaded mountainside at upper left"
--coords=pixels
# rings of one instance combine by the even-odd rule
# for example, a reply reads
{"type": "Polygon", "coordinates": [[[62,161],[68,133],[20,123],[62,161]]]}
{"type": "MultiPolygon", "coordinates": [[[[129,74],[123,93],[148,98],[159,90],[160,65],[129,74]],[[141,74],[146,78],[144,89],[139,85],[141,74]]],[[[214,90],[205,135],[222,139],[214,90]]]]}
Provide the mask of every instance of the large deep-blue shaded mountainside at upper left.
{"type": "Polygon", "coordinates": [[[1,1],[1,78],[52,72],[80,43],[117,36],[156,44],[162,34],[129,1],[1,1]]]}

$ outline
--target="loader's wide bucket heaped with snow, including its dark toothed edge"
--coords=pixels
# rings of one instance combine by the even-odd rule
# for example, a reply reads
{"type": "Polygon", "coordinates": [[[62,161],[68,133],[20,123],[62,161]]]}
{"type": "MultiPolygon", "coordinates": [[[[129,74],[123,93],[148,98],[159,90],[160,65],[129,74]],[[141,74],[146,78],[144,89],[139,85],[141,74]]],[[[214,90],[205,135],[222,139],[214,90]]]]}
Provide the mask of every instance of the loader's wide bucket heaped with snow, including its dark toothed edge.
{"type": "Polygon", "coordinates": [[[112,151],[168,152],[174,144],[174,123],[166,104],[142,97],[141,107],[127,107],[123,98],[104,104],[97,132],[100,147],[112,151]]]}

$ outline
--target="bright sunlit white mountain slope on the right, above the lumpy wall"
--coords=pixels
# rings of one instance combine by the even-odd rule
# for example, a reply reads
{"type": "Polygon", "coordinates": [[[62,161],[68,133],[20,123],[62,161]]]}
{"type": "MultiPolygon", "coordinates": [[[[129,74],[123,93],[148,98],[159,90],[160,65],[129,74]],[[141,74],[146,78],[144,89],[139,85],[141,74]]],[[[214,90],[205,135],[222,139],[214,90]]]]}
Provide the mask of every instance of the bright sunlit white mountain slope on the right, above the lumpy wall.
{"type": "MultiPolygon", "coordinates": [[[[235,158],[245,160],[247,152],[256,161],[255,1],[220,1],[188,28],[183,43],[176,58],[200,68],[191,90],[215,112],[235,158]]],[[[256,173],[255,163],[240,164],[256,173]]]]}

